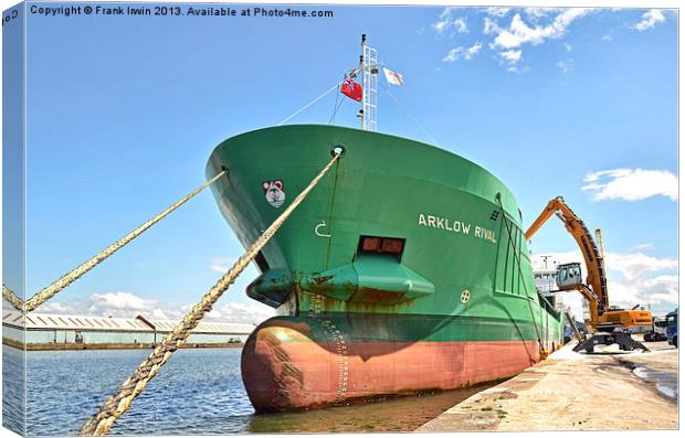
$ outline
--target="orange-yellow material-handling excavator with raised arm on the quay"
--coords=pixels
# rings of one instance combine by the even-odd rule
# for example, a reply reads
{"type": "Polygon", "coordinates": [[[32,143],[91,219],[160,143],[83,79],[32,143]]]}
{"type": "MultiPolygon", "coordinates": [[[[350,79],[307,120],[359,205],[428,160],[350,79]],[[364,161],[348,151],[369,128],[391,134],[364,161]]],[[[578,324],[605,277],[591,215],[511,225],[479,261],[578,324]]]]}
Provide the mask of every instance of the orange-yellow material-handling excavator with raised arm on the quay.
{"type": "MultiPolygon", "coordinates": [[[[557,196],[547,203],[538,218],[526,232],[526,239],[529,241],[552,215],[556,215],[573,236],[588,268],[588,276],[583,281],[579,263],[559,265],[557,268],[557,286],[559,290],[563,291],[578,290],[588,300],[590,307],[590,319],[586,321],[587,331],[590,333],[603,332],[603,334],[598,333],[590,339],[581,339],[575,350],[584,349],[591,352],[597,344],[618,343],[621,350],[630,351],[634,348],[641,348],[646,351],[647,349],[644,345],[632,339],[629,329],[631,327],[651,325],[652,312],[636,310],[637,306],[630,310],[609,306],[603,249],[598,247],[586,224],[566,204],[563,197],[557,196]]],[[[601,238],[601,234],[598,233],[598,237],[601,238]]]]}

